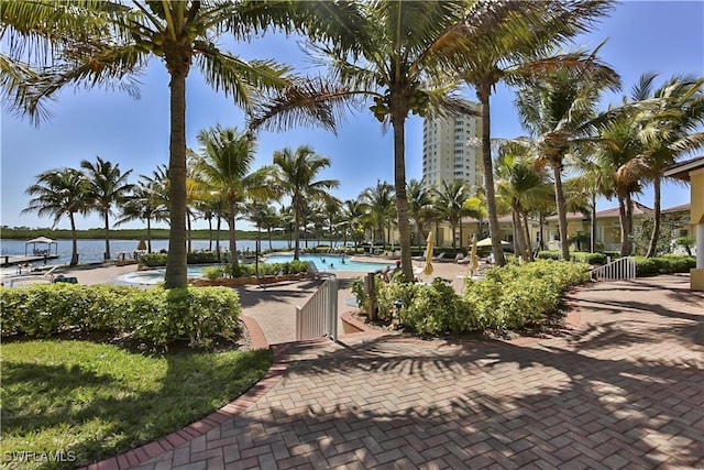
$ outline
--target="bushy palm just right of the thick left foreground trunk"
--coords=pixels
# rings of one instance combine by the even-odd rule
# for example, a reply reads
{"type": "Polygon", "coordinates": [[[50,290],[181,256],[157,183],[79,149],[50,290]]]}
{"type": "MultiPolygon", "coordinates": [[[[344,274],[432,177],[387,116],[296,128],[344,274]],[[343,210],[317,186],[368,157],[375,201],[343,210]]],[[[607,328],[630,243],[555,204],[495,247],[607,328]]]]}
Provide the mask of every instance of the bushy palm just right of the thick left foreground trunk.
{"type": "Polygon", "coordinates": [[[253,193],[265,193],[265,171],[250,173],[256,142],[250,133],[235,128],[215,128],[198,133],[200,153],[195,157],[197,178],[209,192],[219,193],[228,205],[227,219],[232,263],[239,264],[235,220],[244,199],[253,193]]]}

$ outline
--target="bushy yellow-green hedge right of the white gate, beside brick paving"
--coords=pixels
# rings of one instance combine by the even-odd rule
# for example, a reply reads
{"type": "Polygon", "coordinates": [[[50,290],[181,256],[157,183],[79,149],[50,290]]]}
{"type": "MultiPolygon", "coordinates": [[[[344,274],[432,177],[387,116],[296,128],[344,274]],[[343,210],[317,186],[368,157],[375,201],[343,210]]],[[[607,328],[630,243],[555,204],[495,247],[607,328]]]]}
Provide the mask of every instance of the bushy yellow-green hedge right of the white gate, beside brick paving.
{"type": "Polygon", "coordinates": [[[588,277],[585,263],[540,260],[492,269],[484,280],[468,281],[462,295],[440,278],[429,285],[382,283],[377,315],[419,335],[517,329],[557,313],[562,293],[588,277]]]}

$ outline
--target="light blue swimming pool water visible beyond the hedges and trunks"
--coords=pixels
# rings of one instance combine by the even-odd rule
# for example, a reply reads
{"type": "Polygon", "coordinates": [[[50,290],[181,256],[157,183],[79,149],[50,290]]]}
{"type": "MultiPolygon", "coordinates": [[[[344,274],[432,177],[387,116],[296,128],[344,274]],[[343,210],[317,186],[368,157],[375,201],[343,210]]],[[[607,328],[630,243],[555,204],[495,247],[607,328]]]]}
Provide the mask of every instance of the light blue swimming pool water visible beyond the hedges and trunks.
{"type": "MultiPolygon", "coordinates": [[[[352,261],[350,256],[339,254],[301,254],[300,261],[312,261],[319,271],[354,271],[361,273],[371,273],[373,271],[383,270],[386,266],[393,267],[394,261],[385,260],[383,262],[364,262],[352,261]]],[[[273,254],[266,256],[265,263],[285,263],[293,261],[293,254],[273,254]]],[[[188,277],[202,277],[202,269],[206,265],[188,266],[188,277]]],[[[154,285],[164,281],[166,274],[165,267],[154,270],[135,271],[133,273],[122,274],[117,278],[118,283],[127,284],[147,284],[154,285]]]]}

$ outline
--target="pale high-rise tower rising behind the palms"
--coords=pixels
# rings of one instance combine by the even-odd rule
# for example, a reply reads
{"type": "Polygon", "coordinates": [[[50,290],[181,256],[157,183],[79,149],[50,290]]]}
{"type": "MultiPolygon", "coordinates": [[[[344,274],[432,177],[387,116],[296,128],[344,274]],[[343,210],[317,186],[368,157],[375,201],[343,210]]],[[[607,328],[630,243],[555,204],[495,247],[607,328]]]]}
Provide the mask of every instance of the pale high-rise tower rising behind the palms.
{"type": "MultiPolygon", "coordinates": [[[[482,107],[470,102],[479,112],[482,107]]],[[[426,187],[442,182],[464,181],[473,187],[484,185],[482,166],[482,118],[457,114],[428,118],[422,124],[422,181],[426,187]]]]}

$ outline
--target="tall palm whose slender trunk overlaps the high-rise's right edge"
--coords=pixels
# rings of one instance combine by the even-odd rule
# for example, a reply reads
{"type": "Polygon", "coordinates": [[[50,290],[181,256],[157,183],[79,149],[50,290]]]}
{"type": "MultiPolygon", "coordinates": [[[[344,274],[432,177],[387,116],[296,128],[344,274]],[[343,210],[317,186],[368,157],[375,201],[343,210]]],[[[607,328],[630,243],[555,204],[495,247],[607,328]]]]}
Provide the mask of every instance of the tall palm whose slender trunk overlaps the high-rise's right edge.
{"type": "MultiPolygon", "coordinates": [[[[485,3],[487,20],[470,17],[465,40],[474,47],[465,52],[462,79],[474,87],[482,105],[482,161],[492,251],[498,265],[505,263],[501,247],[498,210],[495,201],[491,139],[491,95],[499,81],[540,76],[554,66],[574,63],[575,57],[537,57],[561,41],[584,32],[605,14],[613,2],[561,0],[539,2],[485,3]],[[493,21],[492,21],[493,20],[493,21]]],[[[481,6],[481,3],[480,3],[481,6]]],[[[579,62],[579,58],[578,58],[579,62]]]]}

